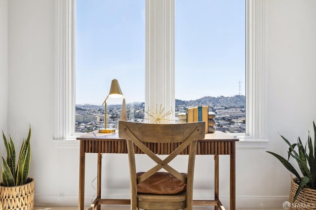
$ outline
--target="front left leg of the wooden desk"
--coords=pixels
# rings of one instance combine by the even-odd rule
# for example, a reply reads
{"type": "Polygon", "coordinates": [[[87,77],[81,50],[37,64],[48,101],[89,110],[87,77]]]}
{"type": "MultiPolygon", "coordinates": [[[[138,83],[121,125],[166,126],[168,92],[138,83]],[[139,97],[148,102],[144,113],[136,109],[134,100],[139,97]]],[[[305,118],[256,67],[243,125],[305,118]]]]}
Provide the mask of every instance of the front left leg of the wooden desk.
{"type": "Polygon", "coordinates": [[[85,141],[80,140],[79,162],[79,210],[84,208],[84,168],[85,168],[85,141]]]}

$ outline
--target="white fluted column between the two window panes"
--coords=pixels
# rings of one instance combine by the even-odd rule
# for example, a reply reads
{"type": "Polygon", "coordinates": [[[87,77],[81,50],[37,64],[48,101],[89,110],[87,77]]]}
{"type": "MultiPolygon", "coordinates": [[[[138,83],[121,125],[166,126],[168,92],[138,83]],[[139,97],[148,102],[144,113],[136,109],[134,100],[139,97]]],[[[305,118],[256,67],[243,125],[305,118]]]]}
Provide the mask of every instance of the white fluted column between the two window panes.
{"type": "Polygon", "coordinates": [[[146,0],[145,110],[174,119],[174,0],[146,0]]]}

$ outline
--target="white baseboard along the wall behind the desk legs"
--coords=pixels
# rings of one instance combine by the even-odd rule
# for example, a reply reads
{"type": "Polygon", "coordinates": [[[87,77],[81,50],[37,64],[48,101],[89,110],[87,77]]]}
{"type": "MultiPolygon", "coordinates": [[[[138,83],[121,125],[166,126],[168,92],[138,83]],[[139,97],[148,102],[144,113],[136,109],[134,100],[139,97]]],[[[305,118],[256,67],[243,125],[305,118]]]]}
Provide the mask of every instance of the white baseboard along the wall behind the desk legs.
{"type": "MultiPolygon", "coordinates": [[[[108,198],[129,199],[129,195],[115,196],[111,195],[108,198]]],[[[204,200],[208,198],[199,197],[196,200],[204,200]]],[[[36,195],[35,206],[51,207],[51,206],[78,206],[78,195],[36,195]]],[[[229,197],[220,198],[226,209],[229,209],[229,197]]],[[[85,196],[85,206],[89,206],[92,201],[92,196],[85,196]]],[[[249,209],[282,209],[283,202],[288,201],[288,196],[237,196],[237,208],[249,209]]]]}

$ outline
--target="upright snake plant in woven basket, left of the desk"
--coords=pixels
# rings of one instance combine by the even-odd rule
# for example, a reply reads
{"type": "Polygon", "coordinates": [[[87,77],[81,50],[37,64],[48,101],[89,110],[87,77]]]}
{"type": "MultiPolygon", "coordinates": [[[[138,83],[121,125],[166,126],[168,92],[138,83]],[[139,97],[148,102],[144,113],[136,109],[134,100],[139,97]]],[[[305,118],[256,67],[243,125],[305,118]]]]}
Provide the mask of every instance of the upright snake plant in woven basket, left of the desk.
{"type": "Polygon", "coordinates": [[[2,157],[2,182],[0,183],[0,203],[3,210],[33,210],[34,180],[28,177],[31,162],[31,127],[26,140],[23,140],[16,164],[13,140],[8,141],[2,131],[7,152],[6,160],[2,157]]]}

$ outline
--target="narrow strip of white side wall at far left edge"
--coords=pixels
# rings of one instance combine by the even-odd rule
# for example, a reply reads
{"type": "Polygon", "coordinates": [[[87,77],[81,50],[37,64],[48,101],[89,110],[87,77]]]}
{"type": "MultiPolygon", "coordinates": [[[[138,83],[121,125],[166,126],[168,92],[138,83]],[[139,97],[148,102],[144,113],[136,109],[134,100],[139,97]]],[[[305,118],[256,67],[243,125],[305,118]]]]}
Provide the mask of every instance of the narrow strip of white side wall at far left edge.
{"type": "Polygon", "coordinates": [[[7,131],[8,108],[8,1],[0,1],[0,130],[7,131]]]}

